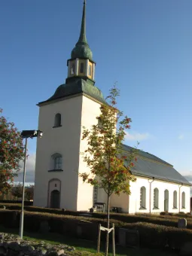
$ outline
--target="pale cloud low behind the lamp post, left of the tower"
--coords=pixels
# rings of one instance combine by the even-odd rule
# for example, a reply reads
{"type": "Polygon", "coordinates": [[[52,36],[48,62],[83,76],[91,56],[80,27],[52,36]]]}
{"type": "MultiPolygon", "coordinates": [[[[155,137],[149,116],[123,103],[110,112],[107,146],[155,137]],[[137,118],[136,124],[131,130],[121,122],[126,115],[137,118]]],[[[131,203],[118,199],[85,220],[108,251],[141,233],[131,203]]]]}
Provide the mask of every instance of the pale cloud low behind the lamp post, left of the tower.
{"type": "MultiPolygon", "coordinates": [[[[35,179],[35,153],[29,154],[28,159],[26,160],[26,182],[34,182],[35,179]]],[[[18,176],[14,178],[14,181],[22,182],[23,181],[23,165],[24,163],[20,163],[20,172],[18,172],[18,176]]]]}

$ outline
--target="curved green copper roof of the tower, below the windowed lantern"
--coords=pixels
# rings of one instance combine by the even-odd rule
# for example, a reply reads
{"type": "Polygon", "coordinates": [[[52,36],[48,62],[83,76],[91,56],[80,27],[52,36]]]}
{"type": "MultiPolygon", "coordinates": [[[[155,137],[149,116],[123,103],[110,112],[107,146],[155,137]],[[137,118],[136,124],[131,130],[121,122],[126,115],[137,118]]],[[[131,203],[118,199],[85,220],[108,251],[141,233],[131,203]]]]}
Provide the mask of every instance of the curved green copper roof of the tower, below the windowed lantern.
{"type": "Polygon", "coordinates": [[[75,96],[76,94],[81,93],[96,99],[96,101],[106,104],[101,90],[93,86],[92,81],[89,79],[85,81],[83,78],[74,78],[74,81],[71,81],[69,84],[61,84],[59,87],[57,87],[53,96],[44,102],[39,102],[38,105],[52,102],[56,99],[64,99],[69,96],[75,96]]]}

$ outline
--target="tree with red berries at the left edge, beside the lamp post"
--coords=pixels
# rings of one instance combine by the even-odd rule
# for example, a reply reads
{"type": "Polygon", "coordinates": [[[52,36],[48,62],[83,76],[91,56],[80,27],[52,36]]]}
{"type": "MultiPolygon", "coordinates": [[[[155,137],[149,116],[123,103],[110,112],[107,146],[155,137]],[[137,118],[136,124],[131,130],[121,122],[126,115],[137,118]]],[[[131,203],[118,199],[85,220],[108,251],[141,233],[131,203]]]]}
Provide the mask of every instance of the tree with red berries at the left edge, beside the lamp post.
{"type": "Polygon", "coordinates": [[[20,132],[0,109],[0,194],[7,194],[25,155],[20,132]]]}

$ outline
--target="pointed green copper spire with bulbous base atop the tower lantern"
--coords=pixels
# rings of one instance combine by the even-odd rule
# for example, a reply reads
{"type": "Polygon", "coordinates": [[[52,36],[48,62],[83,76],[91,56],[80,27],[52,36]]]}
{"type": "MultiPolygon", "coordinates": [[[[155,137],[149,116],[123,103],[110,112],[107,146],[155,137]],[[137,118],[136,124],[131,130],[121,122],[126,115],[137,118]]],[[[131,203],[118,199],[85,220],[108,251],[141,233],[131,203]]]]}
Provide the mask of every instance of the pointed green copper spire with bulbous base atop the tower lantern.
{"type": "Polygon", "coordinates": [[[81,32],[75,48],[72,50],[72,59],[84,58],[92,60],[93,53],[87,44],[86,38],[86,0],[84,0],[83,16],[81,21],[81,32]]]}

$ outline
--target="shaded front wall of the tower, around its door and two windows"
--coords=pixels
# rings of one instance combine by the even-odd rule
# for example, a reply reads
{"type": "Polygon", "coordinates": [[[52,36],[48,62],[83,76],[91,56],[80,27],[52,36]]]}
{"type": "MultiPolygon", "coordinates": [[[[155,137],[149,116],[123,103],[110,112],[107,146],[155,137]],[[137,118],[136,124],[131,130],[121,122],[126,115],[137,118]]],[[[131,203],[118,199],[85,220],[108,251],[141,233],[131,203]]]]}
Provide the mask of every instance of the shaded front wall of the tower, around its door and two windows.
{"type": "Polygon", "coordinates": [[[77,210],[78,163],[81,133],[82,96],[43,105],[39,111],[38,129],[44,132],[37,142],[35,164],[35,206],[47,206],[48,183],[59,178],[62,183],[60,207],[77,210]],[[55,114],[61,114],[62,126],[53,128],[55,114]],[[63,172],[48,172],[51,156],[62,154],[63,172]]]}

